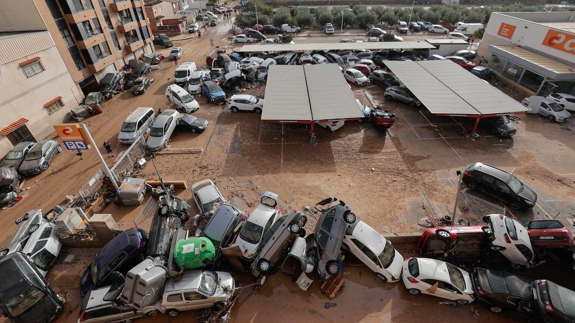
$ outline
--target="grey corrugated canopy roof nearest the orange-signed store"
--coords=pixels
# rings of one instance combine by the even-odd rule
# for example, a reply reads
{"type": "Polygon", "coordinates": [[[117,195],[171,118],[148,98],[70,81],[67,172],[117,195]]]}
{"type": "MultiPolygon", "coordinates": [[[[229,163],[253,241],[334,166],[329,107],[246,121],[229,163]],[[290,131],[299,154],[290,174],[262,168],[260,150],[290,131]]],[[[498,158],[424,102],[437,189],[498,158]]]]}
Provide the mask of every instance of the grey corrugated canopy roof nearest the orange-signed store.
{"type": "Polygon", "coordinates": [[[431,113],[485,115],[530,110],[450,60],[388,61],[386,66],[431,113]]]}

